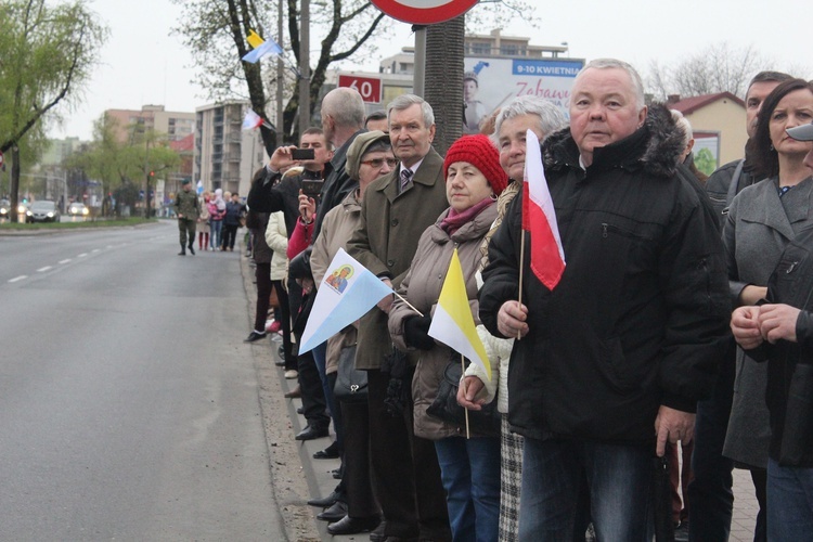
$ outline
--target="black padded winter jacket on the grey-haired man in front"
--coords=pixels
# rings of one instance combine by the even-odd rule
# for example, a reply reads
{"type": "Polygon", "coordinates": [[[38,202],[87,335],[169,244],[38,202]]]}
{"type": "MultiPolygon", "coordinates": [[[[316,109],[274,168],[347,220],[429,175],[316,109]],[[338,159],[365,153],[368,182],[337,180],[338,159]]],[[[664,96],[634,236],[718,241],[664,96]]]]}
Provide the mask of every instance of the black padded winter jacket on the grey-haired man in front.
{"type": "MultiPolygon", "coordinates": [[[[521,435],[650,443],[660,405],[694,412],[710,395],[731,310],[725,261],[680,150],[658,105],[633,134],[596,149],[586,171],[569,129],[543,143],[567,267],[551,292],[522,263],[530,331],[508,374],[508,421],[521,435]]],[[[496,336],[500,307],[518,295],[521,203],[483,272],[480,319],[496,336]]]]}

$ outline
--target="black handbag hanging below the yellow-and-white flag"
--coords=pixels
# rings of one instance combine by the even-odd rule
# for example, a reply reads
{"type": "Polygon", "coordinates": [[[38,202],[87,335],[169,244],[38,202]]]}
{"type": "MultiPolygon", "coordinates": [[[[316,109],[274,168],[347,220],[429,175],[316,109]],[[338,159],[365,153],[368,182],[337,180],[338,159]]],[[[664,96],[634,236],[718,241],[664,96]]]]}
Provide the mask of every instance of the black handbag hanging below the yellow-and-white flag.
{"type": "MultiPolygon", "coordinates": [[[[452,354],[452,361],[443,370],[443,377],[440,379],[440,385],[438,386],[438,395],[429,408],[426,409],[426,413],[448,424],[465,429],[466,409],[457,404],[457,389],[460,388],[462,374],[463,369],[461,367],[460,354],[454,353],[452,354]]],[[[494,437],[500,435],[501,424],[502,417],[496,410],[496,401],[483,404],[481,410],[468,411],[468,428],[472,433],[494,437]]]]}

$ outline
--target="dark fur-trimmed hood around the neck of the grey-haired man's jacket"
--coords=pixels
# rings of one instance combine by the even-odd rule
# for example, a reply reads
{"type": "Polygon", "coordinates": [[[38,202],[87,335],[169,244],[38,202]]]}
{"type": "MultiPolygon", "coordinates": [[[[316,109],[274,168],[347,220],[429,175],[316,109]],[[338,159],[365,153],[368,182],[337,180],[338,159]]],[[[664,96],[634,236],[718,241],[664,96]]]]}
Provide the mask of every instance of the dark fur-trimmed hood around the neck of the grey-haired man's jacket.
{"type": "MultiPolygon", "coordinates": [[[[683,133],[669,109],[659,103],[648,106],[644,126],[628,138],[596,149],[591,168],[641,169],[656,177],[672,177],[683,151],[683,133]]],[[[545,169],[578,167],[579,150],[570,128],[549,136],[542,143],[545,169]]]]}

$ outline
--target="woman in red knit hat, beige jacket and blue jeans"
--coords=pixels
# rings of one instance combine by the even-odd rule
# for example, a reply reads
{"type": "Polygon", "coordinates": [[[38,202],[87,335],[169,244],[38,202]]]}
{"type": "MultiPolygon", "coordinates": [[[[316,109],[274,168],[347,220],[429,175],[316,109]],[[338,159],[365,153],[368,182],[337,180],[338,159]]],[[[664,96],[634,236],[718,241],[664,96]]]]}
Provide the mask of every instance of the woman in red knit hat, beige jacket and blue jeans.
{"type": "Polygon", "coordinates": [[[493,541],[498,539],[500,516],[499,414],[473,427],[472,438],[466,438],[463,424],[427,413],[438,397],[447,366],[450,362],[460,366],[461,359],[433,339],[428,331],[454,248],[472,314],[479,323],[475,272],[482,257],[480,244],[496,218],[496,197],[508,177],[500,166],[496,147],[486,136],[465,136],[454,142],[443,160],[443,171],[450,207],[424,231],[399,288],[399,294],[423,315],[397,299],[389,313],[389,331],[398,348],[420,353],[412,380],[415,435],[435,441],[454,540],[493,541]]]}

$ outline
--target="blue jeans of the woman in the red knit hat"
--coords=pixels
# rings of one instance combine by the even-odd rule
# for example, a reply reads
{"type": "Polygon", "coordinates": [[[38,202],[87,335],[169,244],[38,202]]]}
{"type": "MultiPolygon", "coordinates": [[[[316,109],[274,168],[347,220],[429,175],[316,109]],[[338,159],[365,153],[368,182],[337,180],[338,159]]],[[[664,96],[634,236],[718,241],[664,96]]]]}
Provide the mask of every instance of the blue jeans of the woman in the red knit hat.
{"type": "Polygon", "coordinates": [[[455,542],[498,539],[500,439],[448,437],[435,441],[449,524],[455,542]]]}

